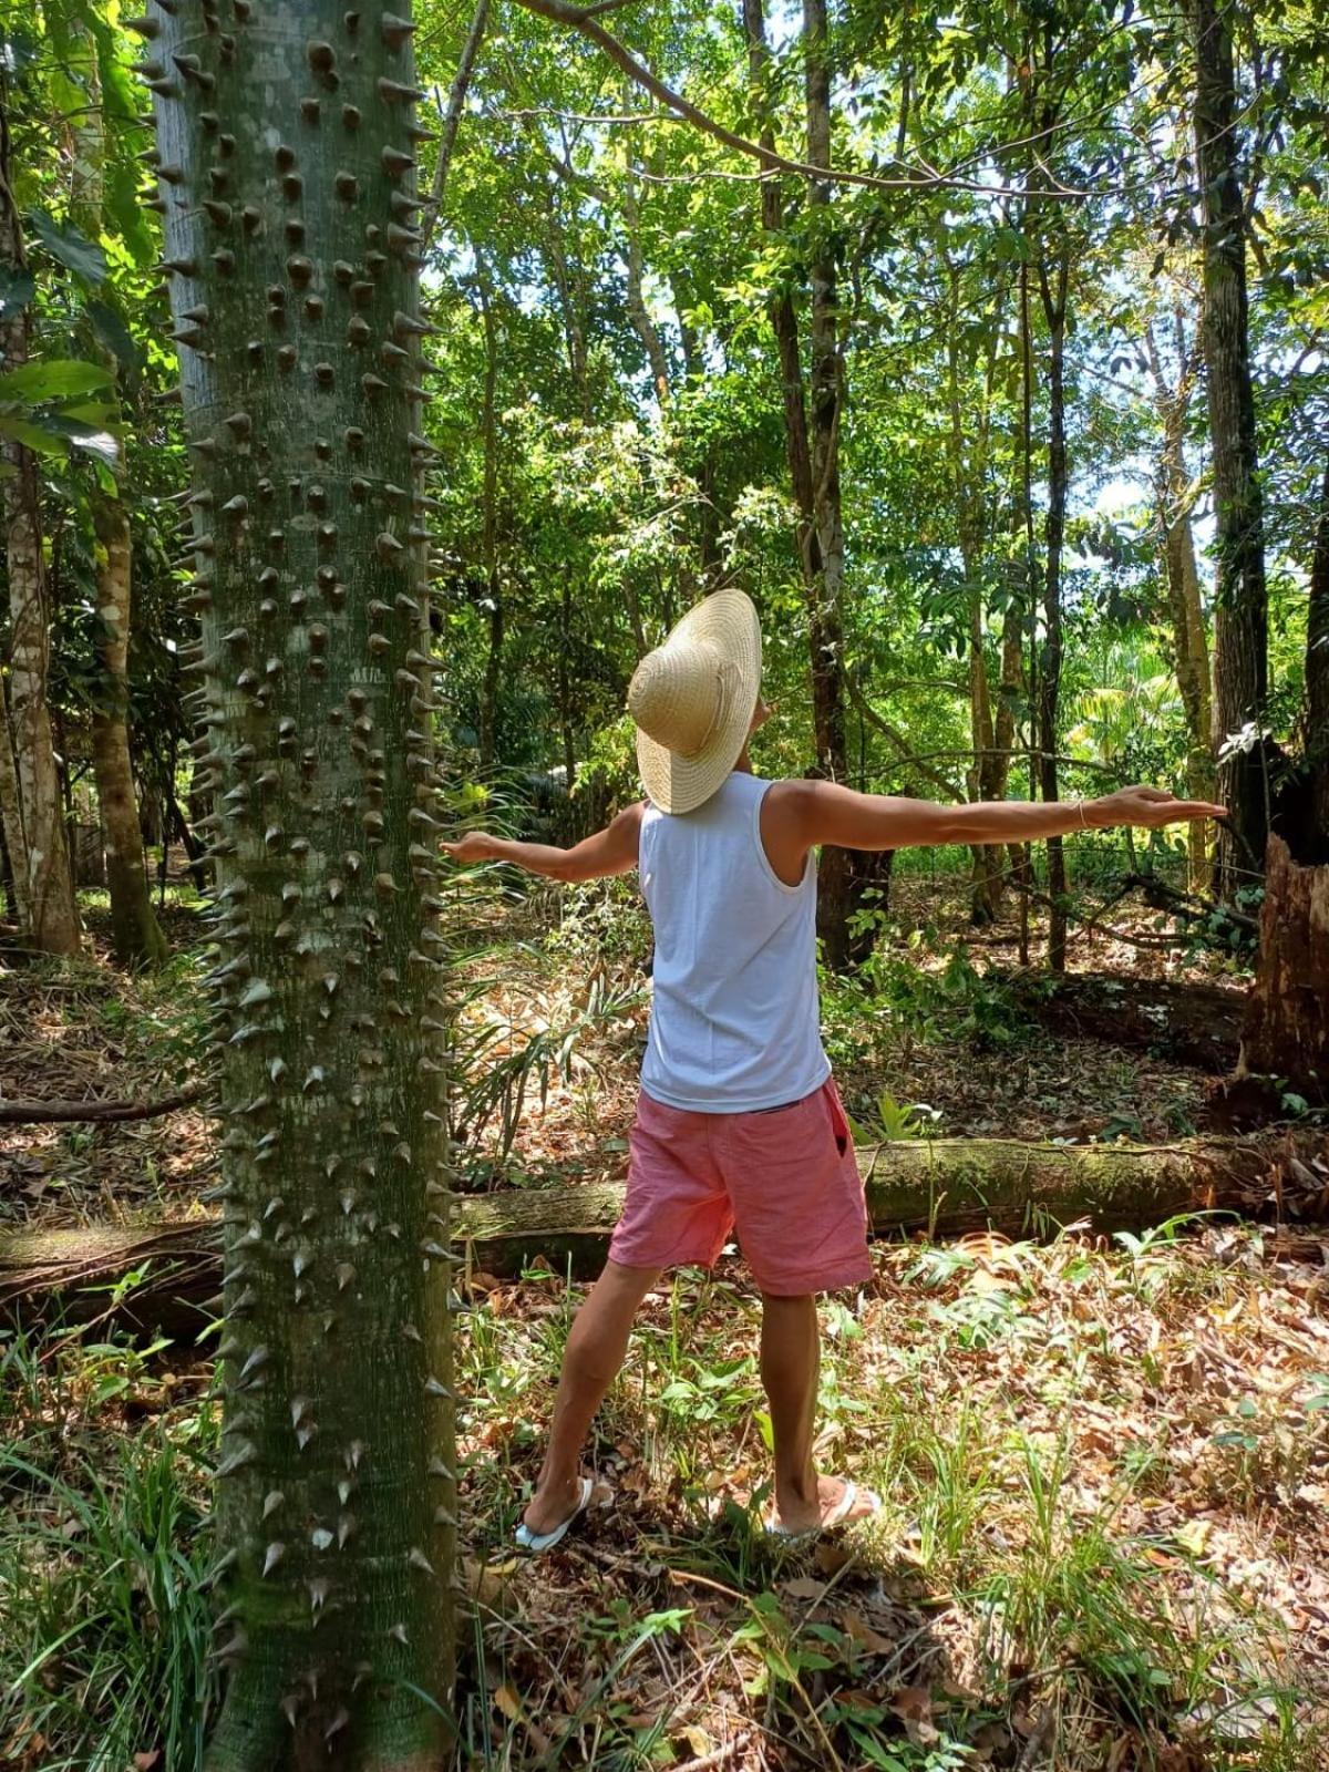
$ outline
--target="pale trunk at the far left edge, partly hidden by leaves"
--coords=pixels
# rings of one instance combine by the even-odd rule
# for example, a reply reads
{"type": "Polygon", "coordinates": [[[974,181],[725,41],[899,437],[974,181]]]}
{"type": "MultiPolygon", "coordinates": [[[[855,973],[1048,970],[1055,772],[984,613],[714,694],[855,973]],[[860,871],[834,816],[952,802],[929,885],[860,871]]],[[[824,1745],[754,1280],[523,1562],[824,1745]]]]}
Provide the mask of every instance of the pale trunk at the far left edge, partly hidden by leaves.
{"type": "MultiPolygon", "coordinates": [[[[23,232],[14,207],[16,170],[9,147],[9,90],[0,71],[0,269],[25,266],[23,232]]],[[[28,312],[0,323],[0,367],[28,360],[28,312]]],[[[0,438],[5,571],[9,576],[9,735],[12,776],[0,766],[0,810],[14,868],[21,937],[41,953],[78,953],[78,909],[55,764],[50,675],[50,599],[41,549],[41,491],[32,452],[0,438]],[[19,881],[21,874],[21,881],[19,881]]]]}

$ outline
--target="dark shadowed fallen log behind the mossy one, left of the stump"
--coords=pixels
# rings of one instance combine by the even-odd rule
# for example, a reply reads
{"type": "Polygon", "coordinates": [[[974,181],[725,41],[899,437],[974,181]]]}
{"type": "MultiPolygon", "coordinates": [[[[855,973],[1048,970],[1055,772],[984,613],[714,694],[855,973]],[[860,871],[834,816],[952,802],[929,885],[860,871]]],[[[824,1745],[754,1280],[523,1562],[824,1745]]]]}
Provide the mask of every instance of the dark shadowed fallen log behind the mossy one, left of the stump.
{"type": "Polygon", "coordinates": [[[1143,1045],[1212,1076],[1224,1076],[1237,1063],[1244,991],[1111,973],[1070,973],[1053,983],[1021,978],[1008,980],[1008,987],[1026,1015],[1058,1033],[1143,1045]]]}

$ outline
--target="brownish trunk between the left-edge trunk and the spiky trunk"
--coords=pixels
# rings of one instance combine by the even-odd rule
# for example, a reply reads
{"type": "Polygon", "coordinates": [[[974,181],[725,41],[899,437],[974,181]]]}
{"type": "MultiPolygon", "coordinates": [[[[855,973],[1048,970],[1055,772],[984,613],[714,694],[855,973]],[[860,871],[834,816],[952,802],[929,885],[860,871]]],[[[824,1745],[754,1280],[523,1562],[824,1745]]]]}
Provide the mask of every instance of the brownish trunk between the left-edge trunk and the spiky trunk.
{"type": "Polygon", "coordinates": [[[92,714],[92,767],[106,835],[106,879],[112,902],[112,946],[122,966],[154,966],[170,953],[152,914],[144,861],[133,769],[129,764],[131,546],[129,516],[119,496],[92,494],[97,528],[97,659],[101,703],[92,714]]]}

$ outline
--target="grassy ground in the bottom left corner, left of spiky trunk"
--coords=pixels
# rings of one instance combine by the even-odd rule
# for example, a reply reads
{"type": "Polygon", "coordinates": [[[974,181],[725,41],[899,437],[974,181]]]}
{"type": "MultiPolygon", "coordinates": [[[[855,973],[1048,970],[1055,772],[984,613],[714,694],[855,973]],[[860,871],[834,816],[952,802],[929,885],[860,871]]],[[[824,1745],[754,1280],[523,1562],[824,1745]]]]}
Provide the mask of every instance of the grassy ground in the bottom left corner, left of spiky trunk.
{"type": "Polygon", "coordinates": [[[0,1744],[44,1742],[51,1772],[124,1772],[154,1749],[161,1772],[200,1765],[214,1419],[195,1400],[131,1437],[87,1426],[142,1370],[112,1343],[0,1343],[0,1744]]]}

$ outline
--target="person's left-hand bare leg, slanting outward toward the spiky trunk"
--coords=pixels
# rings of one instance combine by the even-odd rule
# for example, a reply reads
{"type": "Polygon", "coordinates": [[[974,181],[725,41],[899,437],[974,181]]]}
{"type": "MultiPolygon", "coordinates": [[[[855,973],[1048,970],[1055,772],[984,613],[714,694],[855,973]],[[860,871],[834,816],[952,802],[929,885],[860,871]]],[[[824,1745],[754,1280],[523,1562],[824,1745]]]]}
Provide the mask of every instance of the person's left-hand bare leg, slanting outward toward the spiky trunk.
{"type": "Polygon", "coordinates": [[[659,1274],[657,1267],[622,1267],[618,1262],[606,1262],[604,1272],[576,1315],[563,1352],[549,1446],[535,1494],[523,1515],[533,1533],[553,1531],[578,1504],[581,1448],[595,1411],[624,1363],[638,1306],[659,1274]]]}

